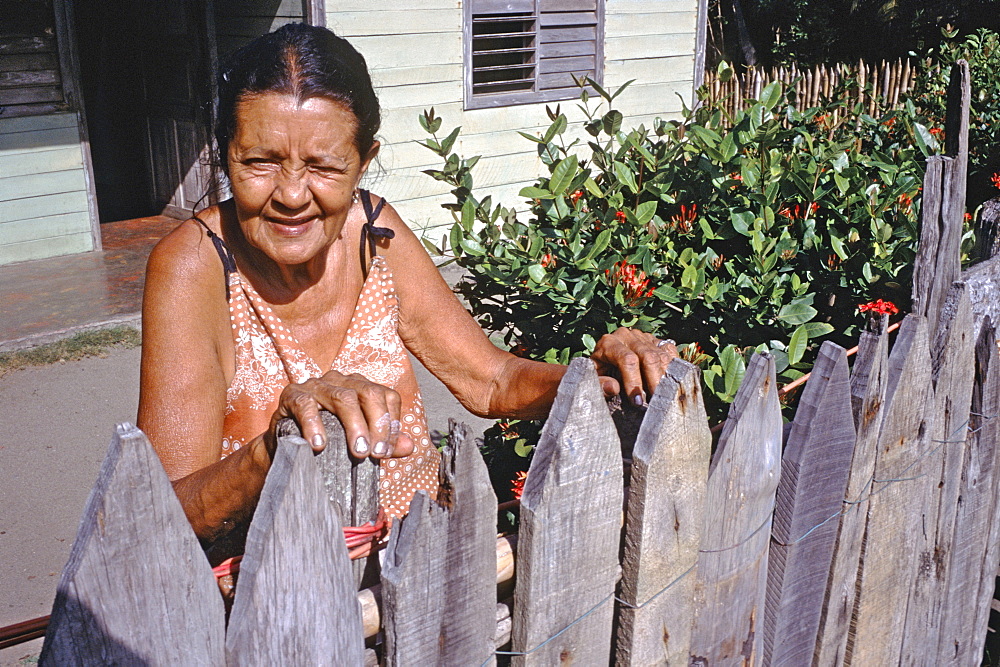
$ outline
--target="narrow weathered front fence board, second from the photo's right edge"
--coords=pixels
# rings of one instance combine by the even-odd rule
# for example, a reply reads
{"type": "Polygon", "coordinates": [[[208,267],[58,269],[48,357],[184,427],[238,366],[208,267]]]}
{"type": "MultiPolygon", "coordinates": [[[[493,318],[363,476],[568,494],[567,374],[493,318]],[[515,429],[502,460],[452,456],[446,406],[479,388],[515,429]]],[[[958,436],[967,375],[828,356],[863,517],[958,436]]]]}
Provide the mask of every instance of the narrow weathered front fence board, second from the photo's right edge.
{"type": "Polygon", "coordinates": [[[975,371],[972,313],[964,284],[948,292],[931,348],[933,397],[925,415],[930,451],[927,476],[913,482],[924,494],[923,530],[916,536],[917,569],[910,590],[902,661],[917,664],[936,655],[946,581],[951,570],[955,514],[966,459],[969,405],[975,371]]]}

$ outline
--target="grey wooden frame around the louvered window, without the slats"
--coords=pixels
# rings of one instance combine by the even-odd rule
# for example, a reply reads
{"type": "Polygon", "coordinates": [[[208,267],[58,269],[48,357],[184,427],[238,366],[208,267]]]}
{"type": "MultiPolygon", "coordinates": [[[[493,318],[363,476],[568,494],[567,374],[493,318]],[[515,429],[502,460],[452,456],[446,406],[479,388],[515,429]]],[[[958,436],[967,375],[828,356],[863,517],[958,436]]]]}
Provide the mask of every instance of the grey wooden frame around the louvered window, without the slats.
{"type": "MultiPolygon", "coordinates": [[[[572,100],[579,97],[579,89],[572,88],[538,88],[539,64],[537,53],[541,47],[539,36],[542,34],[542,13],[561,12],[591,12],[596,18],[594,38],[594,77],[593,79],[600,85],[604,85],[604,14],[605,0],[465,0],[463,2],[462,17],[462,45],[463,62],[462,77],[464,87],[464,104],[466,110],[472,109],[494,109],[500,107],[519,106],[524,104],[539,104],[547,102],[558,102],[572,100]],[[589,5],[593,4],[593,8],[589,5]],[[473,18],[482,14],[523,14],[525,6],[531,6],[534,18],[535,35],[535,75],[532,90],[519,92],[505,92],[495,94],[474,93],[473,91],[473,18]],[[578,7],[579,5],[587,5],[578,7]],[[477,11],[478,10],[478,11],[477,11]],[[485,11],[484,11],[485,10],[485,11]]],[[[587,57],[590,54],[586,54],[587,57]]],[[[589,89],[593,92],[593,89],[589,89]]]]}

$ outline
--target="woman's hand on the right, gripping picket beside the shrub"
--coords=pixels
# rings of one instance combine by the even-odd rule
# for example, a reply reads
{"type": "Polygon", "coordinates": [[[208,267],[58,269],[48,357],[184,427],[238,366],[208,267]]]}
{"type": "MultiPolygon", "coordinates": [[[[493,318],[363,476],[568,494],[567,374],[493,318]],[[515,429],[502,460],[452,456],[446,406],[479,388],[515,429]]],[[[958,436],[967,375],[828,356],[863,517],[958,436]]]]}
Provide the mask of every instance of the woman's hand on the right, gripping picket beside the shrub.
{"type": "Polygon", "coordinates": [[[591,355],[604,395],[624,393],[635,405],[646,404],[676,357],[672,340],[626,327],[601,336],[591,355]]]}

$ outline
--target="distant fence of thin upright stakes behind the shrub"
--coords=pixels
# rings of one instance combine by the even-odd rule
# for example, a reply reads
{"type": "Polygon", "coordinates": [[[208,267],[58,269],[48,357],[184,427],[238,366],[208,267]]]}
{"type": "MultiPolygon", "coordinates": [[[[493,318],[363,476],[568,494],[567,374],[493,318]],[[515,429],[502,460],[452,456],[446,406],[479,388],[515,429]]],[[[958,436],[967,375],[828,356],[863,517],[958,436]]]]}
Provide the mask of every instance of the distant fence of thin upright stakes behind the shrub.
{"type": "MultiPolygon", "coordinates": [[[[744,109],[747,99],[760,99],[760,93],[769,83],[780,81],[786,89],[795,90],[796,107],[808,109],[819,106],[834,96],[838,87],[850,82],[847,101],[851,106],[861,102],[867,113],[878,109],[896,107],[904,93],[913,89],[917,78],[917,65],[910,60],[882,61],[857,64],[819,64],[814,67],[749,67],[732,78],[722,81],[716,71],[705,73],[709,100],[721,105],[730,114],[744,109]]],[[[843,93],[842,93],[843,94],[843,93]]]]}

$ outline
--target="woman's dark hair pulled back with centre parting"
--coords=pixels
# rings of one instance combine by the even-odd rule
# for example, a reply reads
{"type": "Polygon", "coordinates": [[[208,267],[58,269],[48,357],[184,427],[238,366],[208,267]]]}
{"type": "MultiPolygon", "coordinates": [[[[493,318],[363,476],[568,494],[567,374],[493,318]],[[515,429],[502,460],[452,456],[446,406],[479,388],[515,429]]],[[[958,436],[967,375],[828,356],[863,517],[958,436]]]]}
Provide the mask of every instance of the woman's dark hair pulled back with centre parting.
{"type": "Polygon", "coordinates": [[[230,56],[219,71],[218,92],[215,141],[226,174],[236,107],[247,95],[282,93],[300,100],[325,97],[344,104],[357,118],[354,145],[362,158],[382,124],[364,56],[346,39],[304,23],[282,26],[230,56]]]}

